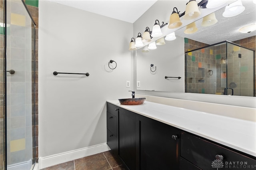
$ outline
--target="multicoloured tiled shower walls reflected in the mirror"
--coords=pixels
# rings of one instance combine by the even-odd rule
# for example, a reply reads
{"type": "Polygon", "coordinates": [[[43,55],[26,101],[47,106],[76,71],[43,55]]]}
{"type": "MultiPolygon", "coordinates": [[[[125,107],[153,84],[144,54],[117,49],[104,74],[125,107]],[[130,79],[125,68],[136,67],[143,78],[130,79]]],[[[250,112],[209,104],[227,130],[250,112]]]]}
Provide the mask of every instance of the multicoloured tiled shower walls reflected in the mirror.
{"type": "MultiPolygon", "coordinates": [[[[249,49],[255,50],[255,44],[256,44],[255,36],[238,40],[234,43],[237,43],[249,49]]],[[[197,49],[200,47],[205,47],[207,45],[208,44],[196,42],[194,40],[185,38],[185,52],[193,49],[197,49]]],[[[228,54],[231,53],[232,55],[238,55],[238,48],[236,46],[230,45],[229,43],[228,47],[229,47],[228,54]]],[[[232,55],[228,55],[228,58],[233,59],[232,55]]],[[[187,77],[194,77],[192,79],[191,78],[186,79],[187,92],[222,94],[224,92],[224,87],[226,86],[226,63],[225,63],[226,61],[223,60],[223,58],[226,58],[226,43],[222,45],[212,46],[212,47],[187,53],[187,57],[188,57],[188,60],[186,61],[187,77]]],[[[234,63],[236,62],[235,60],[238,60],[238,58],[234,59],[234,63]]],[[[241,60],[241,66],[242,66],[241,67],[241,73],[242,73],[241,74],[241,77],[242,77],[241,93],[242,94],[241,95],[252,96],[253,91],[248,89],[253,88],[251,87],[253,86],[253,83],[250,83],[252,79],[249,79],[249,77],[251,77],[253,74],[252,74],[252,70],[246,69],[247,68],[246,62],[249,65],[252,65],[253,62],[255,61],[253,61],[252,58],[248,59],[246,55],[242,57],[242,60],[241,60]]],[[[231,70],[233,71],[238,70],[231,65],[233,65],[233,63],[230,63],[228,65],[230,69],[229,70],[230,73],[231,73],[231,70]]],[[[252,69],[252,67],[248,67],[248,68],[252,69]]],[[[235,81],[235,80],[228,79],[228,82],[232,82],[232,81],[235,81]]],[[[234,93],[235,93],[234,95],[238,95],[236,94],[236,91],[234,91],[234,93]]]]}

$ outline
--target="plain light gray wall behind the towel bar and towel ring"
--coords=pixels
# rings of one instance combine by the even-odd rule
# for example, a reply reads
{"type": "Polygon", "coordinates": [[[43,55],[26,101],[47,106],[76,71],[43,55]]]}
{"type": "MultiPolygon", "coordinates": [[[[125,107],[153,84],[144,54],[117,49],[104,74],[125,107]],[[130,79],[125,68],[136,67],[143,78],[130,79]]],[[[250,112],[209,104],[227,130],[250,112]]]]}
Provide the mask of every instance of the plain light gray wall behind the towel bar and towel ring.
{"type": "Polygon", "coordinates": [[[39,156],[102,144],[106,100],[133,90],[126,87],[127,80],[133,84],[133,24],[54,2],[39,1],[39,8],[39,156]]]}

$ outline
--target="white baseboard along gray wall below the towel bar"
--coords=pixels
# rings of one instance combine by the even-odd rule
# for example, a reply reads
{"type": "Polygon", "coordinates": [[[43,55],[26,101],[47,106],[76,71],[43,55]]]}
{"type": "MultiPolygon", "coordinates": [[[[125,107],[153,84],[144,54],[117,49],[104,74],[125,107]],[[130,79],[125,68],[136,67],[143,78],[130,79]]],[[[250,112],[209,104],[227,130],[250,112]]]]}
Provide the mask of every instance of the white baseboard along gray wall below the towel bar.
{"type": "Polygon", "coordinates": [[[90,156],[93,154],[98,154],[100,152],[105,152],[110,150],[107,143],[97,144],[94,146],[89,146],[86,148],[81,148],[77,150],[72,150],[68,152],[63,152],[60,154],[54,154],[51,156],[40,157],[38,158],[38,169],[47,168],[78,158],[83,158],[85,156],[90,156]]]}

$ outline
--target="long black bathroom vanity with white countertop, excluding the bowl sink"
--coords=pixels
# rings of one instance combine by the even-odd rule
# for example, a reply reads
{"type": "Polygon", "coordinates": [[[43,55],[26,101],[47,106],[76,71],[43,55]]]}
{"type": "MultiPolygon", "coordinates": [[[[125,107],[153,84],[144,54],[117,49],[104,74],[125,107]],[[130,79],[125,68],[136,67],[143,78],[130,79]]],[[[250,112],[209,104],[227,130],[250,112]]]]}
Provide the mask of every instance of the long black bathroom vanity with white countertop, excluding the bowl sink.
{"type": "Polygon", "coordinates": [[[256,169],[256,122],[107,101],[107,144],[130,170],[256,169]]]}

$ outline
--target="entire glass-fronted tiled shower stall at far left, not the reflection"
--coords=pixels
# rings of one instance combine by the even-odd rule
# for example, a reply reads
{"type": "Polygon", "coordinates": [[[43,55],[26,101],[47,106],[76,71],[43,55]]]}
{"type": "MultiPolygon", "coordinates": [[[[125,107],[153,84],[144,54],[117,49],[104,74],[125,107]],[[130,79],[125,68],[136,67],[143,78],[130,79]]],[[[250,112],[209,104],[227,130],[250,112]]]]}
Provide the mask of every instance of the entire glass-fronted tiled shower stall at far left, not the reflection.
{"type": "Polygon", "coordinates": [[[24,0],[0,0],[0,169],[35,163],[35,22],[24,0]]]}

